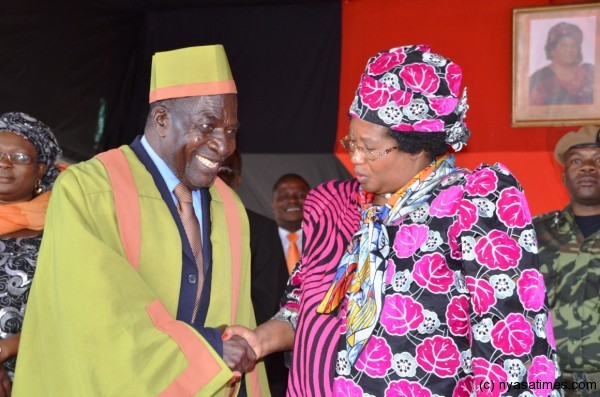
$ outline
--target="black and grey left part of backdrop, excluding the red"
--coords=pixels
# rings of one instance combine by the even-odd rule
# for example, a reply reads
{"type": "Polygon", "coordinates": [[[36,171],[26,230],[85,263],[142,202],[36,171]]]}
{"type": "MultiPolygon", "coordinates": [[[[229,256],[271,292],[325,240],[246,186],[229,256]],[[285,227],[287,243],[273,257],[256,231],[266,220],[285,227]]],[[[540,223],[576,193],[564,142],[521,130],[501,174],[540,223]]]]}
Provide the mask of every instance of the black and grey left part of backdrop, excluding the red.
{"type": "Polygon", "coordinates": [[[238,87],[246,205],[271,215],[283,173],[312,186],[349,177],[333,155],[339,1],[11,0],[0,18],[0,113],[46,122],[73,161],[143,132],[155,52],[220,43],[238,87]]]}

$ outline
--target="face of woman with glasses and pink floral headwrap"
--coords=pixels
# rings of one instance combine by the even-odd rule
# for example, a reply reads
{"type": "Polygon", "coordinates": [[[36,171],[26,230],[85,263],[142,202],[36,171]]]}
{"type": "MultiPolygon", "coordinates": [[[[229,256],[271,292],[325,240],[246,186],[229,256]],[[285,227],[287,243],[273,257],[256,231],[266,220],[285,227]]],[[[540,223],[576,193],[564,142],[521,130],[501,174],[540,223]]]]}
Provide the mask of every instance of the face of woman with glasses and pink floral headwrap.
{"type": "MultiPolygon", "coordinates": [[[[358,147],[381,153],[398,146],[386,127],[358,118],[350,121],[350,139],[358,147]]],[[[350,152],[356,179],[364,190],[375,194],[393,193],[429,165],[424,152],[410,154],[392,150],[387,155],[371,160],[358,149],[350,152]]]]}

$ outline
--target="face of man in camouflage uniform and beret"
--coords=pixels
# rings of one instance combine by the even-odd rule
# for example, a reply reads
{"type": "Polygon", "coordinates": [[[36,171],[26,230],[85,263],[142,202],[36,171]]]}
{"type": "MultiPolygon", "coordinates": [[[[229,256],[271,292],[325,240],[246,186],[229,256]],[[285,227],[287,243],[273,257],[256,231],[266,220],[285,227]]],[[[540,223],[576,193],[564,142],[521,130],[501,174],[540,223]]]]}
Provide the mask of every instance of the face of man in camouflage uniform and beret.
{"type": "Polygon", "coordinates": [[[567,151],[563,179],[574,205],[600,205],[600,148],[567,151]]]}

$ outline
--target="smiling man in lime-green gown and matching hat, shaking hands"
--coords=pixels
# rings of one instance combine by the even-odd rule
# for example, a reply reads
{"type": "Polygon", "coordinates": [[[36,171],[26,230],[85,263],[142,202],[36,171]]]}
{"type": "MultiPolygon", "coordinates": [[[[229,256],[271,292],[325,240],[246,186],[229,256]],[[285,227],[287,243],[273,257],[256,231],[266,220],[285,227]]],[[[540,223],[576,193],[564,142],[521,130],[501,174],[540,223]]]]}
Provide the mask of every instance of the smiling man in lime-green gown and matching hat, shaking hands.
{"type": "MultiPolygon", "coordinates": [[[[237,90],[220,45],[158,52],[143,136],[56,182],[16,396],[269,396],[226,324],[256,324],[248,221],[217,171],[237,90]]],[[[253,369],[254,368],[254,369],[253,369]]]]}

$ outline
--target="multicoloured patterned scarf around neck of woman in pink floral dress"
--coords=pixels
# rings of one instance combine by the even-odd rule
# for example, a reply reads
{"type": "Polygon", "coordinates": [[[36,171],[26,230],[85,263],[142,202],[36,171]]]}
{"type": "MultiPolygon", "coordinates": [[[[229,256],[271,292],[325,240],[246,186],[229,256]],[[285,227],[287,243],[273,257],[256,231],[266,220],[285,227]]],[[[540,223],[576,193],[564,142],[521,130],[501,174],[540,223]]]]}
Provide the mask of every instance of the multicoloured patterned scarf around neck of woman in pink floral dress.
{"type": "MultiPolygon", "coordinates": [[[[382,206],[373,194],[360,189],[362,222],[338,265],[317,311],[331,313],[347,297],[346,349],[354,364],[369,341],[383,307],[384,275],[390,241],[384,226],[399,223],[414,207],[426,201],[441,179],[454,171],[454,156],[446,154],[410,179],[382,206]]],[[[393,266],[393,265],[392,265],[393,266]]]]}

